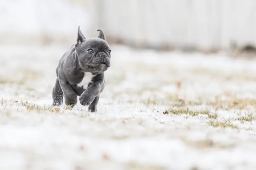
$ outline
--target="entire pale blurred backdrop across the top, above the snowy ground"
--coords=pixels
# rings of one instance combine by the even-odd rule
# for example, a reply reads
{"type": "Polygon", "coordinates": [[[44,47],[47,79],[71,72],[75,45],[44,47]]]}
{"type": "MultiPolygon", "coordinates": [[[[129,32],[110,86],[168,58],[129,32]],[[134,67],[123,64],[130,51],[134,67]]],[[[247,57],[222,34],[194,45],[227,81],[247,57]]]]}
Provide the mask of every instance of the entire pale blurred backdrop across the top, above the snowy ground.
{"type": "Polygon", "coordinates": [[[1,0],[0,43],[109,43],[156,50],[255,51],[255,0],[1,0]]]}

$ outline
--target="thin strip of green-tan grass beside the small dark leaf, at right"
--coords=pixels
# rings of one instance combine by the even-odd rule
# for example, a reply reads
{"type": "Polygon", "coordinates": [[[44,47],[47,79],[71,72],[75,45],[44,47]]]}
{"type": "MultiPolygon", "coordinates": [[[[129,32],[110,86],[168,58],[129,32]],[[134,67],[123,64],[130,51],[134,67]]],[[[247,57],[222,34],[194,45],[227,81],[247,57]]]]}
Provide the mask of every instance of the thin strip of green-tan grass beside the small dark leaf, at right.
{"type": "Polygon", "coordinates": [[[192,111],[189,110],[188,108],[186,109],[169,109],[163,112],[164,114],[176,114],[176,115],[181,115],[181,114],[189,114],[190,116],[198,116],[199,114],[205,114],[208,116],[208,118],[210,119],[216,119],[218,117],[218,115],[215,114],[211,114],[208,110],[203,110],[203,111],[192,111]]]}

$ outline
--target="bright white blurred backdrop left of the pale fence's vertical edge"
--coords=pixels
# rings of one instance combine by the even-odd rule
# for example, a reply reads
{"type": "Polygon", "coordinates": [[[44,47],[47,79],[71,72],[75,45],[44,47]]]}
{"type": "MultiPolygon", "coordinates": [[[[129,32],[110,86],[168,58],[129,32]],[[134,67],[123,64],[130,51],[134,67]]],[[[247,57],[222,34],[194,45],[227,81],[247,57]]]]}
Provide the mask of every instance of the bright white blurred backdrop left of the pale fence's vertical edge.
{"type": "Polygon", "coordinates": [[[77,27],[90,26],[86,7],[89,0],[1,0],[0,43],[75,41],[77,27]]]}

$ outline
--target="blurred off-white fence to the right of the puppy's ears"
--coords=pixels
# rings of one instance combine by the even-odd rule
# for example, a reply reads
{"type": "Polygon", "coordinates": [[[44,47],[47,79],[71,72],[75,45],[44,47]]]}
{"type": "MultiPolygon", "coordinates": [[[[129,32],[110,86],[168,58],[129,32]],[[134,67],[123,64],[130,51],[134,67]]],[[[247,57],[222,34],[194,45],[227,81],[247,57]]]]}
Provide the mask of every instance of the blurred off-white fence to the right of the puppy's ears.
{"type": "Polygon", "coordinates": [[[98,1],[104,6],[99,27],[113,38],[201,49],[256,43],[255,0],[98,1]]]}

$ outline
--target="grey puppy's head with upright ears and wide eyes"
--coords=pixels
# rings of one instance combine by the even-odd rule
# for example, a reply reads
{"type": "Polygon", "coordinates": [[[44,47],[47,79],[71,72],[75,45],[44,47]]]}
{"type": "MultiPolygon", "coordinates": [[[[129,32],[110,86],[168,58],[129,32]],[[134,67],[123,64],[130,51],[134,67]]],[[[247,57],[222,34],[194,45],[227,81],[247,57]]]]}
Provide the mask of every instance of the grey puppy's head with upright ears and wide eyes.
{"type": "Polygon", "coordinates": [[[97,38],[85,38],[79,26],[75,50],[80,67],[85,72],[100,74],[110,67],[111,49],[103,31],[101,29],[97,31],[100,31],[97,38]]]}

